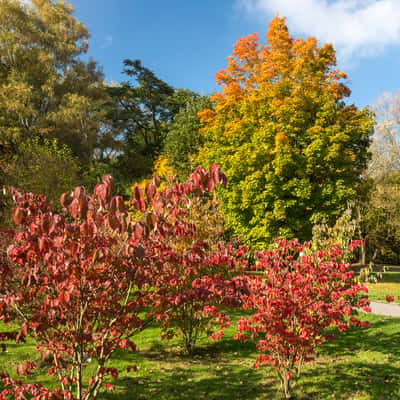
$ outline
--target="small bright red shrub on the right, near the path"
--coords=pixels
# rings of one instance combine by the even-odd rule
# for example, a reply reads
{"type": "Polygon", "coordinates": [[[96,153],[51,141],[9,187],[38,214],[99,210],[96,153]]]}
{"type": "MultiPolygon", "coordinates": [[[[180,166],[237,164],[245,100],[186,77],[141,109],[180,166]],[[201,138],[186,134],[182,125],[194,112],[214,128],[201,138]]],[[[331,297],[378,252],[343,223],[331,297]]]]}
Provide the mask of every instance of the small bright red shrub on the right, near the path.
{"type": "Polygon", "coordinates": [[[256,340],[261,354],[255,367],[273,366],[289,398],[302,363],[312,360],[316,346],[328,339],[327,327],[368,326],[353,316],[354,307],[366,307],[368,299],[358,299],[357,293],[367,289],[355,284],[349,264],[340,263],[339,246],[306,255],[308,244],[297,240],[276,245],[258,253],[253,268],[260,275],[244,278],[248,294],[242,301],[254,314],[239,320],[236,339],[250,335],[256,340]]]}

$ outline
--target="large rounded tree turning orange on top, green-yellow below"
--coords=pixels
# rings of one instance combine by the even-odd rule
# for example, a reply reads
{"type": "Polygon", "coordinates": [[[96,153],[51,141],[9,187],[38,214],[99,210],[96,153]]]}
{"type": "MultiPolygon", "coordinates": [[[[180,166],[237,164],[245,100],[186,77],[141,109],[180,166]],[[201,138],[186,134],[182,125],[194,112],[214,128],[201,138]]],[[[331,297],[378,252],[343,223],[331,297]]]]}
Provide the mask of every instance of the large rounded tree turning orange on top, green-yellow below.
{"type": "Polygon", "coordinates": [[[216,75],[222,92],[204,110],[198,162],[218,162],[227,223],[247,242],[311,238],[312,221],[333,222],[353,198],[368,160],[373,117],[344,99],[346,74],[330,44],[293,39],[284,18],[238,40],[216,75]]]}

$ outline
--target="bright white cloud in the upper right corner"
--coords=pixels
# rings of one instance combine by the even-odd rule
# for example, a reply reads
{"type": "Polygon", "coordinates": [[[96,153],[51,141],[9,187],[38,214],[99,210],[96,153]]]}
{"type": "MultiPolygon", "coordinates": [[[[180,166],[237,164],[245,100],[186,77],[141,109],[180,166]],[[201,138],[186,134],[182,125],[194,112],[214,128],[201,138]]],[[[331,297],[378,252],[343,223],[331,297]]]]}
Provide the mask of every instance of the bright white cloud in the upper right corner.
{"type": "Polygon", "coordinates": [[[341,61],[400,44],[400,0],[239,0],[263,18],[279,13],[289,30],[335,46],[341,61]]]}

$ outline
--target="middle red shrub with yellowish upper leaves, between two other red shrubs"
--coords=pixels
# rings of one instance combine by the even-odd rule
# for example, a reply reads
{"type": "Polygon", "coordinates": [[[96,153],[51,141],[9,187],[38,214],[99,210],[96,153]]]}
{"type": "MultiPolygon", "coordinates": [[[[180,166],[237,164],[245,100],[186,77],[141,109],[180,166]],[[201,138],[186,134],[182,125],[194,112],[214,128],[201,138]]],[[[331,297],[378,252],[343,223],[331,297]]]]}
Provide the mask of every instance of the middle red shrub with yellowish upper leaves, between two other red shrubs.
{"type": "MultiPolygon", "coordinates": [[[[169,228],[161,235],[154,232],[160,255],[148,259],[159,269],[151,313],[160,320],[164,337],[181,336],[190,355],[201,335],[217,339],[223,335],[230,319],[221,307],[239,305],[232,279],[247,267],[247,250],[222,240],[223,224],[214,196],[217,184],[226,184],[217,165],[209,171],[199,167],[186,184],[170,181],[149,202],[147,214],[159,213],[162,203],[169,210],[164,214],[169,228]],[[161,262],[162,269],[157,267],[161,262]]],[[[134,193],[139,190],[136,187],[134,193]]]]}

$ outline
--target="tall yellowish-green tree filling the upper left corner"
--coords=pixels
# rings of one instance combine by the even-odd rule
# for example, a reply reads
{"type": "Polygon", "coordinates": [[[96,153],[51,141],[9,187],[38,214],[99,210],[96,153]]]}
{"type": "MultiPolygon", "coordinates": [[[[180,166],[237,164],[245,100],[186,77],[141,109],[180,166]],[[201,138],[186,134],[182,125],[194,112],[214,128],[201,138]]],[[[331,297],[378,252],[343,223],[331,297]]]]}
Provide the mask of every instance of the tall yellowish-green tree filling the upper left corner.
{"type": "Polygon", "coordinates": [[[89,34],[63,1],[0,2],[0,142],[57,137],[90,161],[105,99],[89,34]]]}

